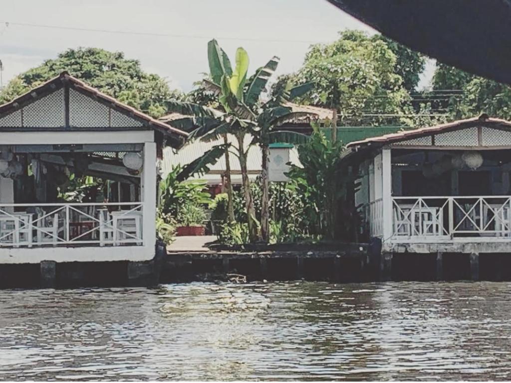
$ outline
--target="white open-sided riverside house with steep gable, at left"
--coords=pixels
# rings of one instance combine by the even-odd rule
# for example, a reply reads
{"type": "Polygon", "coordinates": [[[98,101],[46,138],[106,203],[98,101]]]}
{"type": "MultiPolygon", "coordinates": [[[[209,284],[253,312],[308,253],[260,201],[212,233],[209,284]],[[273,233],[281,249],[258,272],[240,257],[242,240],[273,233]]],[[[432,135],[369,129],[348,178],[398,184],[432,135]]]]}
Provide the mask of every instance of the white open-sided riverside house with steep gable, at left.
{"type": "Polygon", "coordinates": [[[152,259],[157,153],[186,136],[65,72],[0,106],[0,264],[152,259]],[[59,200],[71,173],[114,201],[59,200]]]}

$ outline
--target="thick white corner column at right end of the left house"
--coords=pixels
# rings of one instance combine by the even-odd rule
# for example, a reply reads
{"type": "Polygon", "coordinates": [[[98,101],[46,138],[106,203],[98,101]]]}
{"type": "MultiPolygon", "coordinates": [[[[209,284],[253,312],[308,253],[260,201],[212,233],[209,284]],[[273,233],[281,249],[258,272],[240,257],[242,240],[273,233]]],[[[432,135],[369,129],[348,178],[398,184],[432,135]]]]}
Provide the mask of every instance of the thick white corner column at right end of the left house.
{"type": "Polygon", "coordinates": [[[142,172],[142,202],[144,204],[144,246],[156,245],[156,143],[144,144],[144,170],[142,172]]]}

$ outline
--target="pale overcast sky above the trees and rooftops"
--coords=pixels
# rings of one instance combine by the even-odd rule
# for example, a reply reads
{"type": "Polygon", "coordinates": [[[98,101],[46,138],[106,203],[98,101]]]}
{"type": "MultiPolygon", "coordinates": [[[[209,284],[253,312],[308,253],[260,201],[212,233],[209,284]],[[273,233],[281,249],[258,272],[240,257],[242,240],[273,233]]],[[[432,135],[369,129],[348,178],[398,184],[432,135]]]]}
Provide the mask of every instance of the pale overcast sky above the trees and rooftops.
{"type": "MultiPolygon", "coordinates": [[[[208,70],[212,38],[231,57],[243,46],[249,73],[275,55],[277,74],[284,74],[299,69],[312,43],[334,41],[345,29],[376,33],[326,0],[0,0],[0,6],[4,85],[66,49],[97,47],[122,51],[188,92],[208,70]]],[[[433,70],[429,61],[419,87],[433,70]]]]}

